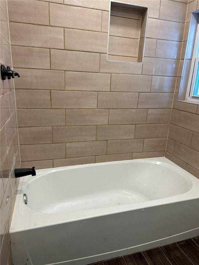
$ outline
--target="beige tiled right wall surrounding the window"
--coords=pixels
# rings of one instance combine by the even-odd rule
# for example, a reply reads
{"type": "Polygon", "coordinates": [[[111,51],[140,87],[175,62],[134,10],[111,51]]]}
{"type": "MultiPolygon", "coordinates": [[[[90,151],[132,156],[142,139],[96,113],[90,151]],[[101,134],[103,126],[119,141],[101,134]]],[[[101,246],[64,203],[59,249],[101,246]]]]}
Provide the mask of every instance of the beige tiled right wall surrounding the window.
{"type": "MultiPolygon", "coordinates": [[[[185,21],[184,38],[182,40],[184,47],[186,47],[187,43],[191,12],[198,8],[197,5],[197,0],[189,1],[187,5],[187,18],[185,21]]],[[[199,105],[177,101],[184,55],[185,48],[182,50],[178,71],[179,77],[175,86],[165,156],[199,178],[199,105]]],[[[190,60],[187,61],[191,62],[191,57],[192,55],[190,55],[190,60]]]]}

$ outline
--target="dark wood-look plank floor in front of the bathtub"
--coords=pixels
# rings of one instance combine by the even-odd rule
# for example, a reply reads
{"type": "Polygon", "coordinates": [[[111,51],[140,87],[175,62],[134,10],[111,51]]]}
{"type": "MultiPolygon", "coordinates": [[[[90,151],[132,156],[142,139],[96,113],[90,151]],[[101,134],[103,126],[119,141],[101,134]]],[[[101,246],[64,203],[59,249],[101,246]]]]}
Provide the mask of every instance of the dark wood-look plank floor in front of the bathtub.
{"type": "Polygon", "coordinates": [[[199,265],[199,236],[92,265],[199,265]]]}

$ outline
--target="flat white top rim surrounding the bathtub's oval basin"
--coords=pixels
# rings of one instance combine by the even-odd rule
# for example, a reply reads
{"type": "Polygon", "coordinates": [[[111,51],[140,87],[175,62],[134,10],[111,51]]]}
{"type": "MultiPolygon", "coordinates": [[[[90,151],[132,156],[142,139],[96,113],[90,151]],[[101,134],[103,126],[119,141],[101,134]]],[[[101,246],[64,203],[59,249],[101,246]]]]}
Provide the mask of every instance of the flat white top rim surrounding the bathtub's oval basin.
{"type": "Polygon", "coordinates": [[[43,213],[43,212],[37,212],[29,207],[27,207],[23,203],[23,188],[25,186],[25,183],[30,183],[32,180],[34,180],[34,177],[32,176],[26,176],[20,179],[19,186],[16,194],[16,200],[12,215],[12,222],[10,226],[10,232],[19,232],[29,229],[36,229],[40,227],[45,226],[53,226],[58,225],[62,223],[68,223],[68,222],[75,222],[79,220],[84,220],[88,218],[95,218],[100,217],[104,215],[110,215],[110,214],[117,214],[120,212],[127,212],[132,210],[144,210],[145,208],[155,207],[159,205],[164,204],[170,204],[170,203],[177,203],[181,201],[187,201],[192,199],[199,199],[199,180],[190,174],[189,172],[185,171],[178,165],[176,165],[174,162],[170,161],[169,159],[165,157],[159,157],[159,158],[141,158],[141,159],[133,159],[133,160],[123,160],[123,161],[113,161],[113,162],[101,162],[101,163],[92,163],[92,164],[84,164],[84,165],[75,165],[75,166],[65,166],[65,167],[56,167],[56,168],[48,168],[48,169],[39,169],[37,170],[38,177],[44,174],[47,174],[51,171],[56,170],[63,170],[64,168],[72,169],[72,168],[81,168],[81,167],[89,167],[89,166],[95,166],[95,165],[104,165],[104,164],[115,164],[115,163],[133,163],[133,162],[146,162],[147,161],[153,161],[157,162],[163,162],[169,165],[172,165],[184,173],[187,174],[187,176],[192,181],[192,187],[190,190],[183,194],[178,194],[174,196],[170,196],[163,199],[155,199],[150,201],[145,201],[141,203],[134,203],[134,204],[126,204],[126,205],[120,205],[120,206],[112,206],[112,207],[106,207],[106,208],[97,208],[97,209],[90,209],[90,210],[81,210],[81,211],[73,211],[73,212],[60,212],[60,213],[43,213]]]}

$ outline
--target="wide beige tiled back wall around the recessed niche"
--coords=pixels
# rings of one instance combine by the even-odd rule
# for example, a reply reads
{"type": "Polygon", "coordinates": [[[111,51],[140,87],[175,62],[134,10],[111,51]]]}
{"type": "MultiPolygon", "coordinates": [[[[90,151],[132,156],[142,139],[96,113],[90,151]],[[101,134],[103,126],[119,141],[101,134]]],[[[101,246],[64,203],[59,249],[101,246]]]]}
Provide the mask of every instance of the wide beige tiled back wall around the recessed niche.
{"type": "MultiPolygon", "coordinates": [[[[178,112],[187,111],[174,108],[171,116],[185,23],[188,30],[187,2],[123,1],[149,7],[143,65],[106,62],[109,0],[28,2],[10,0],[8,5],[13,65],[21,73],[15,88],[22,165],[44,168],[164,156],[170,117],[177,126],[178,119],[184,122],[178,112]],[[37,9],[42,17],[35,15],[37,9]]],[[[125,23],[132,18],[138,22],[138,13],[125,13],[125,23]]],[[[134,42],[130,24],[125,32],[117,30],[113,27],[112,35],[134,42]]],[[[184,133],[194,121],[193,116],[182,126],[184,133]]],[[[173,128],[170,135],[175,132],[173,128]]],[[[170,140],[173,150],[175,141],[170,140]]],[[[194,134],[190,146],[196,141],[194,134]]],[[[194,166],[187,170],[195,172],[194,166]]]]}

